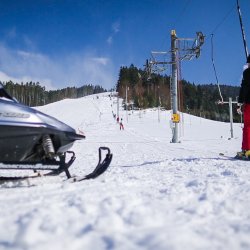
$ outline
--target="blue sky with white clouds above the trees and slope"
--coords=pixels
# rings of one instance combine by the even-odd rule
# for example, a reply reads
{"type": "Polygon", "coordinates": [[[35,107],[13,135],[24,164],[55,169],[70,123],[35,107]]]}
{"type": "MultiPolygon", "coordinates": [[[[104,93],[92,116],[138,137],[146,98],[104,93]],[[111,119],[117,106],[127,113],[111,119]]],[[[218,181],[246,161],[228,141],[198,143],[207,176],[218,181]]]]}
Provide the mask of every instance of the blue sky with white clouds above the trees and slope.
{"type": "MultiPolygon", "coordinates": [[[[240,6],[249,42],[249,0],[240,6]]],[[[0,10],[2,81],[110,89],[121,66],[143,68],[151,51],[169,51],[175,29],[179,38],[206,36],[200,58],[182,63],[184,79],[216,83],[213,33],[219,82],[240,85],[245,54],[236,0],[1,0],[0,10]]]]}

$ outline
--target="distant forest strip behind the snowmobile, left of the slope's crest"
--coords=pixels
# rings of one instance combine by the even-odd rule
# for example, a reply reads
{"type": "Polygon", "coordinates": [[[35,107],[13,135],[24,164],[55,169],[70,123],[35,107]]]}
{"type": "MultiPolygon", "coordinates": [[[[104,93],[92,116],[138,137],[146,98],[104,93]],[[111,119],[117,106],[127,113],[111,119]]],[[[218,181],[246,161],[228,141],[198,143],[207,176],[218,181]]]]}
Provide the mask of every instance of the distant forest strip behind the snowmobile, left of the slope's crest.
{"type": "Polygon", "coordinates": [[[87,95],[98,94],[106,90],[101,86],[84,85],[82,87],[67,87],[47,91],[39,82],[14,83],[2,82],[8,93],[19,102],[28,106],[42,106],[65,98],[79,98],[87,95]]]}

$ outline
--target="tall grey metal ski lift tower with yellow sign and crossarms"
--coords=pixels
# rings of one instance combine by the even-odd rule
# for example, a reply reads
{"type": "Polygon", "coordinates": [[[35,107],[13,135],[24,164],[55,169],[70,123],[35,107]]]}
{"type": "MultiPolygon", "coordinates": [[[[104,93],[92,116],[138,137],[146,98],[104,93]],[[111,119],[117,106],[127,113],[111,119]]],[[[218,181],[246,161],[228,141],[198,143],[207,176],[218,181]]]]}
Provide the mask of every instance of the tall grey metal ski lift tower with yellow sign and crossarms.
{"type": "Polygon", "coordinates": [[[168,52],[151,52],[152,60],[147,61],[147,72],[162,72],[166,65],[170,64],[172,67],[171,77],[171,106],[172,106],[172,141],[173,143],[180,142],[179,140],[179,123],[180,114],[178,109],[178,84],[177,72],[182,60],[192,60],[200,56],[201,46],[204,44],[205,37],[202,32],[196,32],[196,38],[178,38],[176,31],[171,31],[171,50],[168,52]],[[157,60],[157,56],[166,56],[170,54],[168,60],[157,60]]]}

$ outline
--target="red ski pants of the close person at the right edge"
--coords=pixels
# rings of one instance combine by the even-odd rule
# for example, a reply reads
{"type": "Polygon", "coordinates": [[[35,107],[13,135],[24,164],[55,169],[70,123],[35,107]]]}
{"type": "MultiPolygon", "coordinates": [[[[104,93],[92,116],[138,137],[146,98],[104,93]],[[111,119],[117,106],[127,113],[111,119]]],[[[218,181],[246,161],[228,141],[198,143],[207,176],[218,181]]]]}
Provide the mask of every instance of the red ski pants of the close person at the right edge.
{"type": "Polygon", "coordinates": [[[242,136],[242,150],[250,150],[250,104],[243,107],[244,127],[242,136]]]}

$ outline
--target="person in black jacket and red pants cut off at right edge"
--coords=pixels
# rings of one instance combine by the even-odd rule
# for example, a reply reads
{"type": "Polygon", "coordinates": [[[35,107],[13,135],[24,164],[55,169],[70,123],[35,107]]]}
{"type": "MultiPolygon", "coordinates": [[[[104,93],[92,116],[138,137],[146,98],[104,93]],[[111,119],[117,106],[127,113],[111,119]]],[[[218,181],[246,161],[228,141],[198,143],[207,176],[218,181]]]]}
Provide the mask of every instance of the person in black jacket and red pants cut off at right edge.
{"type": "Polygon", "coordinates": [[[247,57],[247,68],[243,71],[243,77],[238,99],[238,112],[243,105],[244,127],[242,134],[242,151],[238,152],[237,158],[250,159],[250,55],[247,57]]]}

